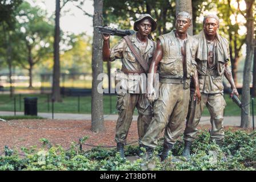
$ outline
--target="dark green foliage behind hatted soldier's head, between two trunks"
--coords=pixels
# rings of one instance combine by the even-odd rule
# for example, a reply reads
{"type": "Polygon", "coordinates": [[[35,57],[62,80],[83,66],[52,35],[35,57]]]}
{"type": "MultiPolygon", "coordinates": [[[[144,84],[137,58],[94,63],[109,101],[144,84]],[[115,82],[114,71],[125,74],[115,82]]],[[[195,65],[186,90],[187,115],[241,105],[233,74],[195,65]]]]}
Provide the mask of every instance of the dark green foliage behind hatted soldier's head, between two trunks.
{"type": "Polygon", "coordinates": [[[166,34],[173,28],[175,18],[175,1],[104,1],[103,18],[105,24],[118,24],[120,28],[133,28],[130,21],[135,21],[138,14],[151,14],[157,20],[157,35],[166,34]]]}

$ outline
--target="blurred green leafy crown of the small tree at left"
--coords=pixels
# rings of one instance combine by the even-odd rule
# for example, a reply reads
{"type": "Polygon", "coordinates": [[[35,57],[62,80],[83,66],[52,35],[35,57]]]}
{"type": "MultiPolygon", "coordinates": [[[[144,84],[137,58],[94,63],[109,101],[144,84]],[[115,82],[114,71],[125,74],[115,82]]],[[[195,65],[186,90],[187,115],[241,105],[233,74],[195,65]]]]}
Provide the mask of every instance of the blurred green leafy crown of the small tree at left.
{"type": "Polygon", "coordinates": [[[17,61],[23,68],[30,69],[39,61],[46,60],[53,52],[53,18],[46,18],[37,6],[23,2],[17,10],[16,32],[19,47],[15,52],[21,56],[17,61]]]}

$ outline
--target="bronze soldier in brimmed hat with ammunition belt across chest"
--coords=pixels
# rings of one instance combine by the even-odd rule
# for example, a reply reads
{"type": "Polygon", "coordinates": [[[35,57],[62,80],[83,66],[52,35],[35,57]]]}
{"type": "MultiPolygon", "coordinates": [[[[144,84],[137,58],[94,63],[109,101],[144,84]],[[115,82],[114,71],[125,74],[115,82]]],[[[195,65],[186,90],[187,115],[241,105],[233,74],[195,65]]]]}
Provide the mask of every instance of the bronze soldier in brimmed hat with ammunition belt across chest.
{"type": "MultiPolygon", "coordinates": [[[[157,23],[155,20],[149,14],[142,14],[134,22],[134,31],[136,31],[136,33],[124,36],[112,49],[109,47],[110,35],[105,34],[107,32],[103,32],[102,34],[103,60],[122,60],[122,69],[117,75],[119,88],[116,86],[116,89],[120,90],[117,90],[118,120],[115,134],[117,150],[120,152],[122,158],[125,158],[123,147],[126,144],[126,138],[135,107],[137,107],[139,114],[139,140],[145,135],[147,126],[149,126],[152,119],[150,102],[146,98],[146,92],[142,90],[146,80],[142,80],[141,75],[149,71],[155,50],[155,42],[150,40],[148,36],[151,31],[154,31],[156,28],[157,23]]],[[[117,30],[114,30],[114,32],[117,32],[117,30]]],[[[118,32],[120,33],[120,31],[118,32]]],[[[126,31],[125,34],[127,34],[127,32],[128,31],[126,31]]],[[[123,34],[123,31],[121,31],[121,34],[123,34]]]]}

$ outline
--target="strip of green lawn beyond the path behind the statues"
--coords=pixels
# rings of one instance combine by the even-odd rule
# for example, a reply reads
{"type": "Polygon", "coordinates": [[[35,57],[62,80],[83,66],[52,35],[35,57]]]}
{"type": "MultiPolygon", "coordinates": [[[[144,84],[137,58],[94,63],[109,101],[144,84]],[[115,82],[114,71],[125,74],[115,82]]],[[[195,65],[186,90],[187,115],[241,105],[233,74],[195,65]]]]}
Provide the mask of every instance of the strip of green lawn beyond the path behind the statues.
{"type": "MultiPolygon", "coordinates": [[[[21,96],[16,95],[16,110],[24,111],[24,99],[25,97],[37,97],[37,110],[38,112],[51,112],[51,102],[47,102],[47,94],[22,94],[21,96]]],[[[50,96],[49,96],[50,98],[50,96]]],[[[227,103],[225,109],[225,115],[241,115],[241,109],[234,104],[234,102],[225,94],[225,101],[227,103]]],[[[116,96],[104,95],[103,96],[103,110],[104,114],[117,114],[115,105],[117,103],[116,96]]],[[[14,99],[10,98],[9,95],[1,94],[0,95],[0,111],[14,111],[14,99]]],[[[91,113],[91,96],[83,97],[63,97],[63,101],[54,103],[54,112],[55,113],[91,113]],[[78,99],[80,99],[80,104],[78,106],[78,99]]],[[[256,113],[256,108],[254,107],[254,113],[256,113]]],[[[137,110],[134,112],[137,114],[137,110]]],[[[209,115],[209,111],[205,107],[203,110],[203,115],[209,115]]]]}

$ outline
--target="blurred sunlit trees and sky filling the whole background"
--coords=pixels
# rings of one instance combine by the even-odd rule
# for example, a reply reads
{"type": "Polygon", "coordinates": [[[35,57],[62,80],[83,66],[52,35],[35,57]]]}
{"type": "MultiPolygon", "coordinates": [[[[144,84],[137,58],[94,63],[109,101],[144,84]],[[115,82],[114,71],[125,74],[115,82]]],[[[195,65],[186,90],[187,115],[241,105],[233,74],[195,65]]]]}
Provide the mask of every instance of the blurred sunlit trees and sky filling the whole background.
{"type": "MultiPolygon", "coordinates": [[[[58,27],[56,26],[58,23],[55,22],[55,18],[58,18],[55,14],[57,11],[50,12],[49,7],[42,9],[41,4],[44,2],[45,0],[0,1],[0,85],[10,90],[10,96],[13,96],[14,86],[15,89],[25,87],[38,89],[41,85],[41,73],[54,75],[49,77],[48,82],[49,88],[53,88],[53,93],[56,94],[60,93],[54,89],[63,86],[61,81],[53,84],[54,77],[58,77],[57,80],[61,79],[60,74],[89,73],[92,79],[92,32],[75,34],[62,31],[60,28],[54,34],[54,27],[58,27]],[[56,38],[57,35],[59,39],[56,38]],[[59,49],[56,48],[57,44],[59,49]],[[54,64],[57,66],[54,67],[54,64]],[[14,79],[14,76],[18,74],[27,77],[26,84],[22,85],[14,79]]],[[[83,8],[85,4],[93,0],[58,0],[56,2],[59,2],[60,18],[74,13],[73,11],[81,11],[83,15],[93,17],[93,13],[90,14],[83,8]]],[[[132,29],[139,14],[149,13],[158,22],[158,28],[153,32],[153,37],[156,39],[157,36],[173,29],[178,8],[177,2],[186,1],[105,0],[103,1],[102,25],[132,29]]],[[[227,38],[230,43],[230,59],[235,84],[238,88],[244,85],[244,89],[247,89],[244,91],[246,97],[242,97],[245,105],[249,102],[249,86],[253,87],[253,96],[256,93],[256,59],[253,56],[255,55],[256,37],[255,3],[253,0],[193,0],[191,5],[193,34],[198,34],[202,30],[204,15],[213,13],[219,16],[219,34],[227,38]],[[253,75],[252,71],[254,71],[253,75]]],[[[93,19],[88,26],[92,26],[92,22],[93,19]]],[[[81,22],[81,24],[84,23],[81,22]]],[[[79,24],[73,26],[77,27],[79,24]]],[[[117,43],[119,39],[119,37],[111,37],[110,46],[117,43]]],[[[120,66],[120,61],[104,63],[103,72],[110,70],[110,67],[120,68],[120,66]]],[[[84,81],[89,80],[88,77],[84,79],[86,79],[84,81]]],[[[53,97],[61,101],[60,95],[53,97]]],[[[243,121],[248,123],[248,119],[243,119],[243,121]]]]}

